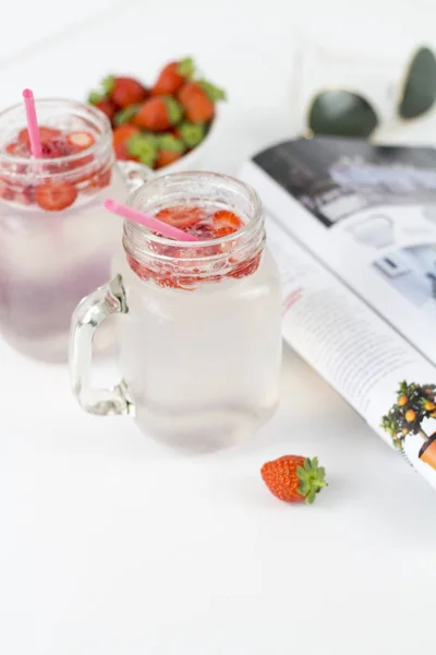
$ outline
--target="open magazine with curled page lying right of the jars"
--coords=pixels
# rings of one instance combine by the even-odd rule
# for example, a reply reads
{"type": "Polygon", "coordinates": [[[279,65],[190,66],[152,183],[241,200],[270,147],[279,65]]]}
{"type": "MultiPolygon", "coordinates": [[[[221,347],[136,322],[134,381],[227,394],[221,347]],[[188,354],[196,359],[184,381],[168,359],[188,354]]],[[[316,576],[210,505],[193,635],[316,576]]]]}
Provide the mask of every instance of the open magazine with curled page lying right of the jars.
{"type": "Polygon", "coordinates": [[[296,140],[241,177],[266,210],[286,341],[436,488],[436,151],[296,140]]]}

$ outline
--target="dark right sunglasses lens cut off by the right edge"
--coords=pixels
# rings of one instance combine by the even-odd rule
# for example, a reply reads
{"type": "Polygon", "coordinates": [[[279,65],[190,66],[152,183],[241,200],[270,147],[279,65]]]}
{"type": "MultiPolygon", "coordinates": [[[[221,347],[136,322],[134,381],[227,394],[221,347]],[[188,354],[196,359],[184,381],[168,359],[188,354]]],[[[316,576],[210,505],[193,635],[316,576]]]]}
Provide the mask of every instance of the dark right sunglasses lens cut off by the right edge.
{"type": "Polygon", "coordinates": [[[398,112],[415,118],[433,107],[436,100],[436,59],[432,50],[421,48],[413,57],[398,112]]]}

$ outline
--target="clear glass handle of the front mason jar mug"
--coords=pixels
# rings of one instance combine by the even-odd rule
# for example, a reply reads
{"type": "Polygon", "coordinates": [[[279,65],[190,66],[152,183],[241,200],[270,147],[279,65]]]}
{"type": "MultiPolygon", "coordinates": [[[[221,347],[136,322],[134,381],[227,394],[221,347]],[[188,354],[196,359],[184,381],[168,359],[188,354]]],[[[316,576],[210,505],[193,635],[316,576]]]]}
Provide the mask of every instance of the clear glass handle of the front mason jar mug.
{"type": "Polygon", "coordinates": [[[121,275],[86,296],[77,306],[71,327],[70,377],[73,393],[85,412],[99,416],[133,415],[124,380],[111,389],[90,385],[93,340],[98,325],[110,314],[126,313],[128,303],[121,275]]]}

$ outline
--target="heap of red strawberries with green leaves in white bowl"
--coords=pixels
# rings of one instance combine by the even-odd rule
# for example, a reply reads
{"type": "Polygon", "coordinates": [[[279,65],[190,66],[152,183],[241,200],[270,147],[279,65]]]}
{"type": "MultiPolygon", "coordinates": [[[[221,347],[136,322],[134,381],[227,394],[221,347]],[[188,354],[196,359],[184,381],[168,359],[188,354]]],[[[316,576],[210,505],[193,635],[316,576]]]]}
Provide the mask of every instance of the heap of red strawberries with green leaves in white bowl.
{"type": "Polygon", "coordinates": [[[111,121],[118,159],[162,168],[199,145],[225,99],[187,57],[167,63],[150,87],[133,78],[105,78],[88,102],[111,121]]]}

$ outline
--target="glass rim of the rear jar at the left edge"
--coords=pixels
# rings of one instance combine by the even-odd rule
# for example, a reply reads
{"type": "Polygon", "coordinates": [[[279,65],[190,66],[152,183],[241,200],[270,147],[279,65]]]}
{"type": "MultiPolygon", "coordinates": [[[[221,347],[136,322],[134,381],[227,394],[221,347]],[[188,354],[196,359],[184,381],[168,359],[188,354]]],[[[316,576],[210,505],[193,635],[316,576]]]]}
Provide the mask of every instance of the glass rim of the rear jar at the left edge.
{"type": "MultiPolygon", "coordinates": [[[[107,118],[107,116],[105,116],[105,114],[102,111],[100,111],[97,107],[94,107],[93,105],[88,105],[86,103],[82,103],[80,100],[71,100],[69,98],[40,98],[40,99],[35,99],[35,106],[36,109],[38,109],[38,106],[49,106],[50,104],[59,104],[59,105],[64,105],[65,108],[69,107],[70,111],[69,114],[73,114],[74,112],[74,108],[80,110],[80,109],[86,109],[86,111],[96,119],[96,122],[98,121],[101,124],[101,132],[99,134],[99,139],[96,140],[95,143],[93,143],[92,146],[89,146],[88,148],[86,148],[86,151],[81,151],[78,153],[74,153],[72,155],[65,155],[62,157],[51,157],[50,159],[46,159],[46,158],[38,158],[35,159],[33,157],[22,157],[22,156],[15,156],[15,155],[11,155],[5,151],[0,151],[0,165],[1,163],[5,163],[5,164],[12,164],[12,165],[25,165],[27,167],[29,166],[38,166],[38,165],[44,165],[49,163],[50,165],[56,165],[56,164],[74,164],[75,162],[80,162],[81,159],[83,159],[85,156],[89,156],[93,155],[95,156],[96,154],[98,154],[98,152],[101,150],[101,144],[105,143],[105,141],[107,141],[109,138],[111,139],[111,124],[109,119],[107,118]]],[[[13,112],[15,111],[22,111],[24,110],[24,106],[22,103],[16,103],[15,105],[12,105],[11,107],[8,107],[7,109],[3,109],[2,111],[0,111],[0,121],[4,118],[8,117],[8,115],[13,115],[13,112]]],[[[23,129],[25,128],[25,123],[23,124],[23,129]]]]}

